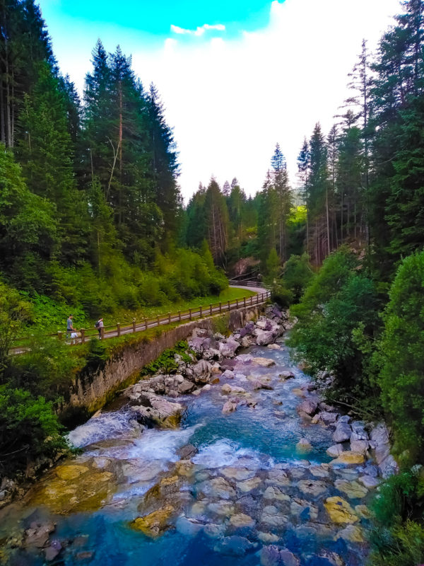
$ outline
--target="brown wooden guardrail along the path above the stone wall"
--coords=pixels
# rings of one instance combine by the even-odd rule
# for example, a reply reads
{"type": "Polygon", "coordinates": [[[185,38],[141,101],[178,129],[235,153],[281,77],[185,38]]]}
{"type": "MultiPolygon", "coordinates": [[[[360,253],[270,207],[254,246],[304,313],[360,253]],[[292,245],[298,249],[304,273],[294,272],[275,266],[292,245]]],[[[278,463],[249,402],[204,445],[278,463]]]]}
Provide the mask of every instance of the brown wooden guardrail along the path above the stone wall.
{"type": "MultiPolygon", "coordinates": [[[[257,284],[255,285],[257,287],[257,284]]],[[[37,337],[52,338],[57,337],[58,340],[64,340],[66,344],[76,345],[83,344],[91,338],[102,338],[102,340],[107,340],[108,338],[119,337],[125,334],[134,334],[136,332],[143,332],[143,330],[148,330],[149,328],[155,328],[157,326],[171,324],[175,322],[182,322],[183,320],[196,320],[199,318],[204,318],[205,316],[212,316],[214,314],[225,313],[227,311],[232,311],[235,308],[240,308],[243,306],[254,306],[265,303],[271,293],[269,291],[264,291],[264,293],[259,293],[257,295],[245,296],[241,299],[235,299],[234,301],[226,301],[215,304],[210,304],[209,306],[198,306],[194,308],[189,308],[187,311],[177,311],[177,313],[167,313],[166,315],[158,315],[155,318],[144,318],[143,320],[137,322],[133,318],[132,323],[129,325],[121,325],[116,323],[113,326],[104,326],[100,329],[97,328],[87,330],[86,328],[80,328],[74,332],[77,334],[76,337],[71,337],[71,333],[57,332],[53,334],[38,335],[37,337]]],[[[23,336],[17,338],[13,346],[11,347],[11,354],[22,354],[27,352],[30,348],[30,342],[34,340],[34,336],[23,336]]]]}

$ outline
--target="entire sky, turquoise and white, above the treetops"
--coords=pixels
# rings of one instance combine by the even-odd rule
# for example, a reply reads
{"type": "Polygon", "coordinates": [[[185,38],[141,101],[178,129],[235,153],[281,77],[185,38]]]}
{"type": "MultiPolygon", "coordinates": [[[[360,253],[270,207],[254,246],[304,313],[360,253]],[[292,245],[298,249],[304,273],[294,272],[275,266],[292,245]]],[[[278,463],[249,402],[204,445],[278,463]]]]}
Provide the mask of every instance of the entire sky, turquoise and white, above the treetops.
{"type": "Polygon", "coordinates": [[[185,202],[215,176],[261,189],[278,142],[296,183],[304,137],[349,96],[363,38],[375,50],[399,0],[40,0],[62,73],[82,93],[100,39],[132,55],[174,128],[185,202]]]}

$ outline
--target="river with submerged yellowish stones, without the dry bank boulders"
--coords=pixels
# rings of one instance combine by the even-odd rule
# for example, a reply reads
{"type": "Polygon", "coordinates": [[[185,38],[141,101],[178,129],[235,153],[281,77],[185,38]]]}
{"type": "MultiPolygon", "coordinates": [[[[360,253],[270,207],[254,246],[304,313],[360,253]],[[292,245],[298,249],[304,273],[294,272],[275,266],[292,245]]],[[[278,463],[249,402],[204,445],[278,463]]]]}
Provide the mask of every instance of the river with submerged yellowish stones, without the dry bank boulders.
{"type": "Polygon", "coordinates": [[[363,468],[330,464],[334,427],[298,414],[310,378],[277,343],[238,355],[233,379],[178,398],[177,429],[146,429],[123,403],[71,432],[81,454],[1,512],[0,564],[363,565],[363,468]],[[255,389],[258,378],[269,388],[255,389]],[[227,382],[246,403],[223,414],[227,382]],[[46,524],[49,555],[23,537],[46,524]]]}

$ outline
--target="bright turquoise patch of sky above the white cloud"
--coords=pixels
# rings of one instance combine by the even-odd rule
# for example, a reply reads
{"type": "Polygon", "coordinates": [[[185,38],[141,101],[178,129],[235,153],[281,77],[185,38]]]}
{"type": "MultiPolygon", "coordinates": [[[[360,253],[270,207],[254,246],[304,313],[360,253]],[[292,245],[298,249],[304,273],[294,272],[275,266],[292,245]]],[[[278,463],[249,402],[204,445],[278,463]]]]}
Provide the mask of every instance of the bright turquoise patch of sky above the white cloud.
{"type": "MultiPolygon", "coordinates": [[[[72,26],[76,38],[120,34],[149,43],[170,35],[170,26],[196,29],[223,24],[225,31],[208,30],[207,36],[237,37],[242,30],[257,30],[269,22],[270,0],[40,0],[42,13],[54,41],[69,39],[72,26]]],[[[186,40],[192,39],[184,36],[186,40]]]]}

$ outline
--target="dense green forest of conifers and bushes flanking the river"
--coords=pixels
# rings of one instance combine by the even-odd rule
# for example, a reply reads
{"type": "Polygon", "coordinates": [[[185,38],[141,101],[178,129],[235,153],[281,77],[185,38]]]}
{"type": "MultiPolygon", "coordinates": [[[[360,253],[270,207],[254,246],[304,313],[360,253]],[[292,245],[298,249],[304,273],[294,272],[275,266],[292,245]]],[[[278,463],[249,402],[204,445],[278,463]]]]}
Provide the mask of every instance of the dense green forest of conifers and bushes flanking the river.
{"type": "Polygon", "coordinates": [[[299,149],[295,187],[277,144],[254,197],[212,178],[187,207],[160,96],[131,59],[99,41],[80,100],[33,0],[6,0],[0,18],[1,434],[39,415],[39,454],[57,430],[52,399],[21,388],[36,352],[8,357],[37,301],[94,317],[260,274],[298,318],[291,345],[331,382],[329,401],[391,426],[400,473],[377,497],[372,564],[423,562],[424,1],[401,2],[377,52],[363,41],[334,126],[317,122],[299,149]]]}

